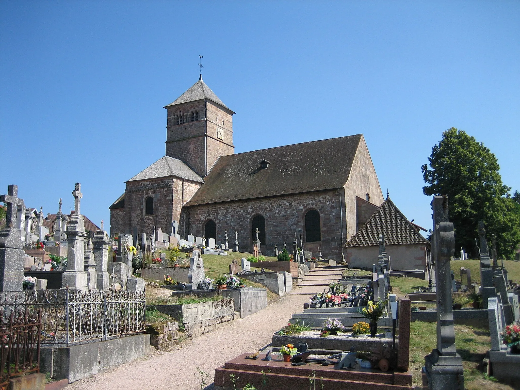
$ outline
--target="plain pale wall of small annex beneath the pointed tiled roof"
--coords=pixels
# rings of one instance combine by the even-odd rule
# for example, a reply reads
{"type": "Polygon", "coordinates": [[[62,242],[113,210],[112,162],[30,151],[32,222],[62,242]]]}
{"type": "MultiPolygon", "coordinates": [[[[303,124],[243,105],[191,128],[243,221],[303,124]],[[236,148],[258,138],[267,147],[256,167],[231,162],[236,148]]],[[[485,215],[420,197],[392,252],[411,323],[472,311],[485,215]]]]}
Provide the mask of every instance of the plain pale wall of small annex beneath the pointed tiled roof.
{"type": "MultiPolygon", "coordinates": [[[[393,271],[420,269],[427,271],[426,256],[430,250],[424,244],[386,245],[386,253],[391,258],[393,271]]],[[[346,248],[345,260],[349,267],[370,268],[378,262],[379,246],[358,246],[346,248]]]]}

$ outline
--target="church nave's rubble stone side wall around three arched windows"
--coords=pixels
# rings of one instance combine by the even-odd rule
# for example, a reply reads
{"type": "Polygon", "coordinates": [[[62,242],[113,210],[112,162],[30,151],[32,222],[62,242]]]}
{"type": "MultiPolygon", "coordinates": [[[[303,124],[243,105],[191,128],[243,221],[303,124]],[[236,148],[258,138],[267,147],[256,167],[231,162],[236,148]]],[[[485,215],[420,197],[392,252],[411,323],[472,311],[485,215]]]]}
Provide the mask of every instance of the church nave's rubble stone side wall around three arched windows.
{"type": "MultiPolygon", "coordinates": [[[[202,237],[203,223],[207,219],[213,219],[217,225],[216,242],[224,242],[224,231],[227,229],[230,245],[234,241],[232,232],[237,229],[240,251],[252,252],[252,219],[261,214],[265,218],[266,225],[266,245],[262,245],[262,253],[272,256],[275,244],[278,245],[279,250],[282,250],[284,242],[289,253],[292,252],[294,232],[298,232],[299,240],[300,233],[304,234],[305,213],[315,209],[320,213],[321,241],[305,242],[303,238],[304,248],[317,254],[318,248],[321,247],[323,256],[339,259],[341,257],[340,192],[341,190],[317,191],[192,206],[187,208],[189,218],[187,217],[183,222],[186,230],[189,225],[190,234],[202,237]]],[[[355,213],[355,205],[353,209],[355,213]]],[[[355,214],[352,219],[355,223],[355,214]]],[[[345,219],[343,222],[345,223],[345,219]]]]}

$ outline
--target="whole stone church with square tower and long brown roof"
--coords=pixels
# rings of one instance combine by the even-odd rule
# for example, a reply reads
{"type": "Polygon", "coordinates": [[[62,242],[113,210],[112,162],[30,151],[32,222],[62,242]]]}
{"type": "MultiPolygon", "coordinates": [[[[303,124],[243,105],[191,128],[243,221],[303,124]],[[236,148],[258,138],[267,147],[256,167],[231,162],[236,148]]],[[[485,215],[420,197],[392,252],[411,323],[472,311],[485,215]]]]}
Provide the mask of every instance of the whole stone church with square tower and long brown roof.
{"type": "Polygon", "coordinates": [[[292,248],[296,233],[306,251],[339,260],[384,201],[362,134],[235,154],[235,112],[202,76],[164,108],[165,155],[125,181],[109,207],[112,237],[170,233],[175,222],[181,238],[234,242],[237,232],[251,252],[258,228],[265,255],[292,248]]]}

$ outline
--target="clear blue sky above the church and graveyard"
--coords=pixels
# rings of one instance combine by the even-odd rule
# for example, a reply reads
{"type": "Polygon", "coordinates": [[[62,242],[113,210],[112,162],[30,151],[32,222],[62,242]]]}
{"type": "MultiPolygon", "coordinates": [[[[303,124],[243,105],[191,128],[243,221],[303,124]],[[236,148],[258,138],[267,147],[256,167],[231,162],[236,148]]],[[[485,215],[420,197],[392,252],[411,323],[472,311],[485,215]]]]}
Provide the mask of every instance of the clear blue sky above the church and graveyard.
{"type": "Polygon", "coordinates": [[[421,165],[451,127],[520,190],[520,2],[0,2],[0,192],[108,206],[164,155],[199,76],[237,114],[235,152],[362,133],[383,192],[431,228],[421,165]]]}

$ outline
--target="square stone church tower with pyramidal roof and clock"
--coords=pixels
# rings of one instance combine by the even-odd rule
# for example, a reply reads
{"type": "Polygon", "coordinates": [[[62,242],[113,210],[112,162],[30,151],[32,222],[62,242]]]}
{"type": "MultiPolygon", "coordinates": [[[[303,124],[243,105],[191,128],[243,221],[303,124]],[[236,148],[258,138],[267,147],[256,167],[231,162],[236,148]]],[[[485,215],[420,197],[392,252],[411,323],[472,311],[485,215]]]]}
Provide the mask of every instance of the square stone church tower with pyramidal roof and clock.
{"type": "Polygon", "coordinates": [[[202,81],[169,105],[166,155],[205,177],[222,155],[233,154],[233,114],[202,81]]]}

